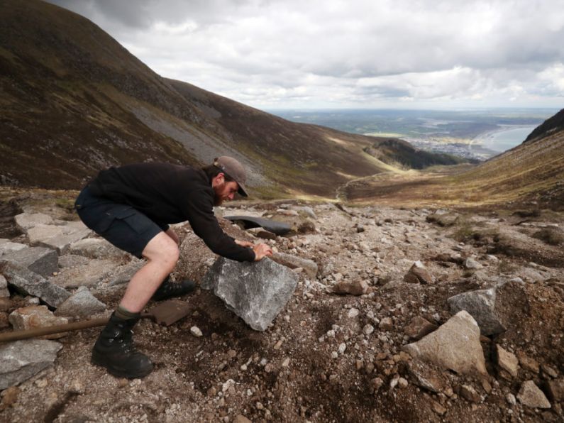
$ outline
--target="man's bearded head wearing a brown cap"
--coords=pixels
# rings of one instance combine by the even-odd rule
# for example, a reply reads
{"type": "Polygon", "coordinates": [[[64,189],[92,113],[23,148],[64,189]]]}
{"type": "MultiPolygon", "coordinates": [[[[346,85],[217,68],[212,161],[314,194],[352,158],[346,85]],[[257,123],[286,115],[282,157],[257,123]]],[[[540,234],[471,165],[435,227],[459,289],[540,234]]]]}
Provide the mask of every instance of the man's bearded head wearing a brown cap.
{"type": "Polygon", "coordinates": [[[233,199],[238,192],[243,197],[248,197],[245,189],[247,175],[243,165],[238,160],[223,155],[214,159],[214,163],[204,167],[204,171],[211,178],[211,187],[214,188],[214,204],[219,206],[226,199],[233,199]]]}

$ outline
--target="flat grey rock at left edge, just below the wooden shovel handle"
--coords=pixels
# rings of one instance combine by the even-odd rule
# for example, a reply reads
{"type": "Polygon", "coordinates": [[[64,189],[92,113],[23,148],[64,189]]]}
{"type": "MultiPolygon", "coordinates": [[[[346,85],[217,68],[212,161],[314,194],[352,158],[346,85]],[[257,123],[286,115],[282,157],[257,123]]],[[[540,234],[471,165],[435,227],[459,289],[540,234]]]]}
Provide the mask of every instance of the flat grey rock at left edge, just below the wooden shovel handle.
{"type": "Polygon", "coordinates": [[[52,365],[61,348],[61,344],[45,339],[0,344],[0,390],[18,385],[52,365]]]}

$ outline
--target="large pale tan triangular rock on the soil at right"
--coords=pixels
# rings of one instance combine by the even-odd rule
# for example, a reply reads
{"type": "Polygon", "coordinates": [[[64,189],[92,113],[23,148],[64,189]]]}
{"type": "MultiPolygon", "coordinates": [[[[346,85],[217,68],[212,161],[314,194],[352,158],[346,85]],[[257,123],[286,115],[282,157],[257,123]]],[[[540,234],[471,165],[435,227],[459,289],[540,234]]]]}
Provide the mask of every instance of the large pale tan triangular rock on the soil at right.
{"type": "Polygon", "coordinates": [[[480,344],[480,328],[465,311],[455,314],[421,341],[407,344],[404,351],[414,358],[456,373],[487,375],[484,351],[480,344]]]}

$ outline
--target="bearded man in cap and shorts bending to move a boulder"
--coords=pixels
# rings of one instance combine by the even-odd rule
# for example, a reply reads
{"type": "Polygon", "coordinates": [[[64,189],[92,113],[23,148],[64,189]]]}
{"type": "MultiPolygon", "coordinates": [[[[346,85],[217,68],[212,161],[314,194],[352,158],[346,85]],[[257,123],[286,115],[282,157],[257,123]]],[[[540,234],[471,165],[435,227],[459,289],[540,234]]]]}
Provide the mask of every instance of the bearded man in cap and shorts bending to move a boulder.
{"type": "Polygon", "coordinates": [[[174,284],[168,275],[179,258],[178,236],[169,227],[189,221],[211,251],[238,261],[272,256],[264,243],[253,246],[225,234],[213,207],[247,197],[246,174],[235,159],[222,156],[195,169],[167,163],[139,163],[102,170],[79,194],[75,208],[90,229],[147,263],[133,275],[118,308],[92,350],[92,363],[122,378],[142,378],[153,370],[148,356],[133,346],[133,326],[145,304],[191,292],[194,282],[174,284]]]}

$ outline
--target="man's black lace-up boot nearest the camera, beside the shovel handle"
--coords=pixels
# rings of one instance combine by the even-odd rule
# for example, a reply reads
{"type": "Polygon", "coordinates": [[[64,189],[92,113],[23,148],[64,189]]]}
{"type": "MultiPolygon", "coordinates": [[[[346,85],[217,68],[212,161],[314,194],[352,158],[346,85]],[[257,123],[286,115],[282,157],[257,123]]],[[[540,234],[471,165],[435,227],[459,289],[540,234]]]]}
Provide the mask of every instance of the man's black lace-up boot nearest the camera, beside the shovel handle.
{"type": "Polygon", "coordinates": [[[143,378],[153,370],[148,356],[136,351],[133,345],[133,326],[137,319],[121,319],[115,312],[102,329],[92,349],[92,363],[105,367],[118,378],[143,378]]]}

